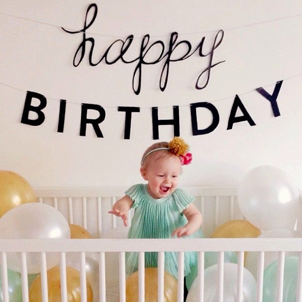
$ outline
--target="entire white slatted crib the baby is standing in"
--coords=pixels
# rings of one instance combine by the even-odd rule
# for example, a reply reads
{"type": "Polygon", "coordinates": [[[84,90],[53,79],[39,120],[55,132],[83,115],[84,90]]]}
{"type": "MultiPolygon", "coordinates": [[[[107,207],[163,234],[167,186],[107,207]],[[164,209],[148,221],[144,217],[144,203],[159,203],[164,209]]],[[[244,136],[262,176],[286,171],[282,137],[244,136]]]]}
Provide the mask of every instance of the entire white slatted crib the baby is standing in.
{"type": "MultiPolygon", "coordinates": [[[[122,227],[121,221],[108,214],[113,203],[124,195],[126,188],[84,188],[84,189],[36,189],[37,199],[41,203],[52,205],[58,209],[70,224],[86,228],[95,239],[1,239],[1,279],[3,301],[8,302],[8,281],[6,256],[10,252],[20,252],[22,255],[22,295],[23,301],[29,301],[26,253],[38,252],[41,260],[42,301],[47,302],[47,272],[46,253],[59,252],[61,255],[61,301],[67,302],[66,253],[79,253],[81,301],[86,300],[85,255],[97,253],[99,262],[99,299],[109,301],[106,296],[105,259],[109,252],[119,253],[119,301],[126,301],[125,252],[139,252],[139,301],[145,297],[144,287],[144,253],[158,252],[158,301],[163,302],[164,290],[164,252],[178,252],[178,302],[184,300],[184,252],[198,252],[198,301],[203,302],[204,291],[204,253],[218,252],[219,278],[217,290],[219,302],[223,302],[224,288],[224,252],[236,251],[238,255],[237,297],[243,301],[243,268],[244,251],[259,252],[257,275],[257,301],[263,300],[264,255],[265,252],[278,251],[277,301],[283,297],[283,271],[285,252],[299,252],[299,270],[297,284],[297,300],[302,302],[302,239],[301,238],[240,238],[240,239],[102,239],[108,237],[112,229],[122,227]]],[[[236,190],[230,188],[183,188],[196,196],[195,205],[203,216],[203,230],[208,237],[219,225],[234,219],[244,219],[237,205],[236,190]]],[[[299,222],[298,222],[299,227],[299,222]]],[[[108,285],[107,285],[108,286],[108,285]]],[[[204,301],[206,302],[206,301],[204,301]]]]}

